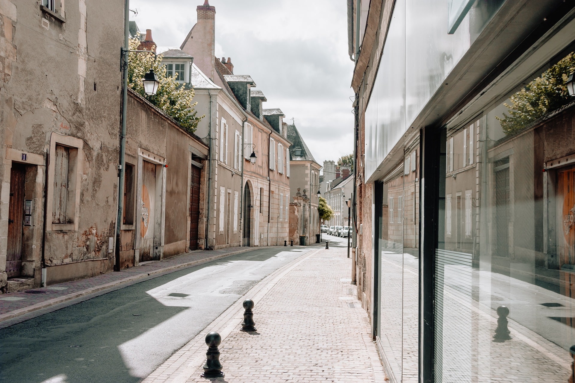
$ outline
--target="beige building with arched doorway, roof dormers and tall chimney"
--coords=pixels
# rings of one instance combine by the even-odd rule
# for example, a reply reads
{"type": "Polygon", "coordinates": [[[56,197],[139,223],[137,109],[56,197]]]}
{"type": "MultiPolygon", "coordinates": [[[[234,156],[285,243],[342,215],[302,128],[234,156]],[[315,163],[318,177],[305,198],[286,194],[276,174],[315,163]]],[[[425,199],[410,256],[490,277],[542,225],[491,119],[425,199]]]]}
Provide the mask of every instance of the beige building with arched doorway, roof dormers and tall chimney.
{"type": "MultiPolygon", "coordinates": [[[[216,188],[227,189],[233,196],[229,204],[233,211],[233,219],[229,221],[232,227],[227,229],[233,241],[224,241],[216,235],[215,246],[276,245],[287,239],[289,222],[289,164],[285,158],[290,143],[281,128],[283,114],[279,111],[279,114],[265,115],[263,102],[267,99],[263,92],[255,90],[251,76],[233,73],[229,57],[228,60],[214,57],[215,17],[216,8],[208,1],[198,6],[197,23],[181,45],[183,52],[194,57],[197,68],[198,84],[192,80],[192,86],[196,89],[198,113],[211,116],[198,127],[201,137],[211,135],[210,152],[215,156],[213,160],[217,160],[212,165],[216,173],[209,182],[216,188]],[[221,118],[228,125],[224,127],[227,130],[223,136],[218,130],[221,118]],[[209,124],[212,124],[211,130],[209,124]],[[221,140],[225,140],[223,145],[221,140]],[[252,152],[257,157],[254,164],[250,161],[252,152]],[[229,156],[229,162],[225,156],[229,156]]],[[[210,190],[218,192],[213,186],[210,190]]],[[[210,200],[218,201],[218,198],[220,195],[215,195],[210,200]]],[[[221,217],[220,206],[221,203],[214,207],[214,214],[221,217]]],[[[224,211],[228,211],[227,202],[223,206],[224,211]]],[[[215,230],[211,227],[209,232],[213,233],[215,230]]]]}

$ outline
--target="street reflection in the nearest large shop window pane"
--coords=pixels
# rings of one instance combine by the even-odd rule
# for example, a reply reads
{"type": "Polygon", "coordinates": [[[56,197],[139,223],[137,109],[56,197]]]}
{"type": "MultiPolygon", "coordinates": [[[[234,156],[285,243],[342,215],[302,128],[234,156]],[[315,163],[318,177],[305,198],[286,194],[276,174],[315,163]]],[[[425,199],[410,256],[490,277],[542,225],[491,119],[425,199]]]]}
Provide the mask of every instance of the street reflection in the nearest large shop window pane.
{"type": "Polygon", "coordinates": [[[572,378],[575,103],[572,55],[505,103],[448,129],[436,250],[438,382],[572,378]],[[509,309],[511,339],[496,335],[509,309]]]}

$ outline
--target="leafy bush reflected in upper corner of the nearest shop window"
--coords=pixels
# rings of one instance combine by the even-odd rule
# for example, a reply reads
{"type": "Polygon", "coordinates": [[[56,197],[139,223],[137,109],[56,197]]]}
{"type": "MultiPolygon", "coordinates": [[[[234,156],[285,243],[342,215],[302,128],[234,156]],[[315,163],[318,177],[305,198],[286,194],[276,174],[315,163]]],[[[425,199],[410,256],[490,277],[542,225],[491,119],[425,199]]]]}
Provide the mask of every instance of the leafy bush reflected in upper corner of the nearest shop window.
{"type": "Polygon", "coordinates": [[[536,119],[571,102],[565,83],[574,70],[575,55],[571,52],[512,95],[511,105],[505,104],[509,115],[496,117],[505,134],[517,133],[536,119]]]}

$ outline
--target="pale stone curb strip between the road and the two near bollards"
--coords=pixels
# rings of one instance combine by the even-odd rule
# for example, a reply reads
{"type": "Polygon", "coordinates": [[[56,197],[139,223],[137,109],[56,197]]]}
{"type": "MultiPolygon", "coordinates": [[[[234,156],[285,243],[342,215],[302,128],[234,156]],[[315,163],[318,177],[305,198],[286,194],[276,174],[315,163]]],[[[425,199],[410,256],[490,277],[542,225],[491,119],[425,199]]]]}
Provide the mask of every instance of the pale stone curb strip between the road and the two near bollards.
{"type": "Polygon", "coordinates": [[[196,336],[194,336],[193,339],[187,342],[186,345],[184,345],[178,351],[175,351],[175,353],[170,358],[156,367],[156,370],[148,375],[148,377],[144,378],[141,383],[155,382],[156,377],[158,377],[159,370],[163,370],[162,367],[166,365],[166,363],[171,364],[174,358],[186,358],[185,354],[187,354],[189,355],[189,357],[186,358],[187,367],[185,367],[179,374],[174,374],[169,378],[170,383],[185,383],[191,376],[193,376],[198,367],[201,367],[202,363],[204,363],[204,359],[206,357],[206,343],[204,338],[208,332],[217,330],[221,336],[222,341],[225,341],[225,338],[227,338],[227,336],[231,334],[233,330],[237,330],[237,328],[239,328],[241,319],[243,319],[244,309],[242,304],[245,299],[249,298],[257,303],[275,286],[275,284],[278,283],[279,280],[285,277],[287,273],[292,271],[309,257],[319,253],[321,250],[324,249],[311,249],[309,252],[302,254],[301,257],[296,258],[289,264],[275,270],[275,272],[263,278],[262,281],[252,287],[250,291],[248,291],[244,296],[240,297],[240,299],[235,301],[227,310],[225,310],[222,314],[220,314],[220,316],[214,319],[212,323],[208,324],[204,330],[200,331],[196,336]]]}

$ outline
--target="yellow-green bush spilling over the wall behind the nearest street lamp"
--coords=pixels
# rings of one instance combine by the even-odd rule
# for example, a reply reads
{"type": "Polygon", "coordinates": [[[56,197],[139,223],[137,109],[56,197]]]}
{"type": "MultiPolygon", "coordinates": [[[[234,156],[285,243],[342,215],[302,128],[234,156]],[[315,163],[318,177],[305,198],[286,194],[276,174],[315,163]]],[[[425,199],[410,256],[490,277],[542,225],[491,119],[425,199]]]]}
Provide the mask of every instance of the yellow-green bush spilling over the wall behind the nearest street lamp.
{"type": "MultiPolygon", "coordinates": [[[[140,45],[140,40],[131,38],[129,44],[130,50],[136,50],[140,45]]],[[[194,110],[197,102],[192,103],[194,90],[185,89],[183,85],[176,82],[176,76],[166,76],[166,66],[162,65],[162,55],[158,55],[154,63],[152,63],[154,57],[152,53],[130,52],[128,55],[128,86],[175,119],[190,133],[196,131],[198,123],[205,115],[197,117],[197,111],[194,110]],[[150,71],[150,68],[154,69],[160,82],[155,95],[145,94],[142,83],[144,74],[150,71]]]]}

